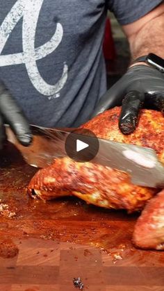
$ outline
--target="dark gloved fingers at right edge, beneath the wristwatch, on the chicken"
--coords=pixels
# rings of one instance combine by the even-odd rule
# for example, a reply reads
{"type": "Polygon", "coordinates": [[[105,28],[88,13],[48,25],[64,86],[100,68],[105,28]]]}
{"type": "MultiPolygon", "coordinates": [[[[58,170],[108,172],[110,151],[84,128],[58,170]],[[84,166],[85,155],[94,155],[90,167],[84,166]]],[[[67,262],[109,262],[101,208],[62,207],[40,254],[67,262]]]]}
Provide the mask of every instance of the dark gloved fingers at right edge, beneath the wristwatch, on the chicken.
{"type": "Polygon", "coordinates": [[[164,92],[154,92],[154,94],[146,94],[145,103],[147,108],[159,110],[164,113],[164,92]]]}

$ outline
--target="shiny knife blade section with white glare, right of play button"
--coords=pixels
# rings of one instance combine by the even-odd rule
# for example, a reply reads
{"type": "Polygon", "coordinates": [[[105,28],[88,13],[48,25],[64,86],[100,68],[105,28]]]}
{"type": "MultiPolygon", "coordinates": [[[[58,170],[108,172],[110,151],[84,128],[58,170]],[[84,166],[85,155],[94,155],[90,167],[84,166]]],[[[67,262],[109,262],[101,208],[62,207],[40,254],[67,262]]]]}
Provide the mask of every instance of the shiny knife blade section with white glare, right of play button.
{"type": "Polygon", "coordinates": [[[99,139],[99,152],[92,163],[127,172],[136,185],[164,187],[164,167],[153,149],[99,139]]]}

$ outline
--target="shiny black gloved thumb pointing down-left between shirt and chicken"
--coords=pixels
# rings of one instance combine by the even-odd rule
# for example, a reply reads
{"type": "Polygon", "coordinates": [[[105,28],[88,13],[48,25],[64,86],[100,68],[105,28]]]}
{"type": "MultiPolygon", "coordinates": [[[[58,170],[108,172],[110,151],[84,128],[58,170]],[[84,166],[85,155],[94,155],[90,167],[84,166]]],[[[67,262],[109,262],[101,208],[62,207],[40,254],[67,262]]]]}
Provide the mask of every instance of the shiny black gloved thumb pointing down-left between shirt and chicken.
{"type": "Polygon", "coordinates": [[[99,113],[103,113],[105,110],[113,108],[115,106],[120,106],[122,104],[122,96],[124,96],[126,83],[120,78],[100,99],[98,105],[96,106],[92,117],[95,117],[99,113]]]}

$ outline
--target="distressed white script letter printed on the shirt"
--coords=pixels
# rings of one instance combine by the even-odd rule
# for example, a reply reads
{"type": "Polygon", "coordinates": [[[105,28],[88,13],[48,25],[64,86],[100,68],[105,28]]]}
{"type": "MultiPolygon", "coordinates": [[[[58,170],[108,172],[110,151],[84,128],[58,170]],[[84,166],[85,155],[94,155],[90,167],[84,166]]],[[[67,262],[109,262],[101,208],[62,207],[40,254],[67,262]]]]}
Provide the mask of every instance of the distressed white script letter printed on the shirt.
{"type": "MultiPolygon", "coordinates": [[[[38,23],[38,17],[44,0],[17,0],[10,10],[0,27],[0,66],[19,65],[26,66],[26,71],[31,83],[38,92],[49,97],[56,98],[60,96],[60,90],[67,81],[67,64],[64,63],[63,74],[58,82],[49,85],[44,81],[37,67],[36,60],[45,58],[56,50],[63,39],[63,26],[60,23],[56,25],[56,31],[49,42],[35,48],[35,33],[38,23]],[[13,53],[1,55],[3,48],[15,28],[19,19],[23,18],[22,24],[22,53],[13,53]]],[[[55,67],[54,67],[55,69],[55,67]]]]}

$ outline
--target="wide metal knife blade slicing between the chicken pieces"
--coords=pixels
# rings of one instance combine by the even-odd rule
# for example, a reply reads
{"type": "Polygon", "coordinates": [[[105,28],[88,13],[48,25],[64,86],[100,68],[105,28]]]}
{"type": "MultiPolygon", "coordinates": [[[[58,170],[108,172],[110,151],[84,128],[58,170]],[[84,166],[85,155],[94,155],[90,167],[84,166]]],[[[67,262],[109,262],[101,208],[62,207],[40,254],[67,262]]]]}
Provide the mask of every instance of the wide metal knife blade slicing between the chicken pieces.
{"type": "MultiPolygon", "coordinates": [[[[29,147],[19,144],[8,125],[6,125],[6,135],[7,140],[15,144],[29,165],[42,168],[50,165],[55,158],[67,156],[65,140],[74,129],[76,128],[44,128],[31,125],[33,142],[29,147]]],[[[76,137],[79,140],[82,138],[80,134],[76,134],[76,137]]],[[[150,188],[164,187],[164,166],[158,160],[156,151],[133,144],[101,138],[98,140],[99,151],[92,159],[92,163],[124,171],[130,175],[131,182],[136,185],[150,188]]],[[[89,147],[88,150],[92,151],[92,148],[89,147]]]]}

